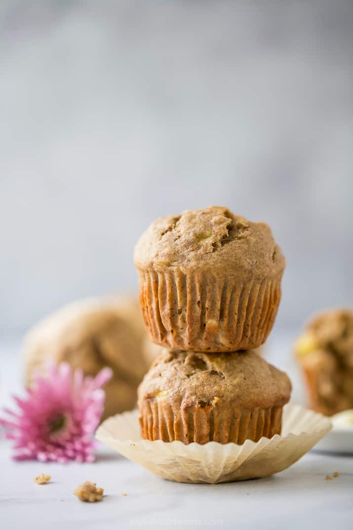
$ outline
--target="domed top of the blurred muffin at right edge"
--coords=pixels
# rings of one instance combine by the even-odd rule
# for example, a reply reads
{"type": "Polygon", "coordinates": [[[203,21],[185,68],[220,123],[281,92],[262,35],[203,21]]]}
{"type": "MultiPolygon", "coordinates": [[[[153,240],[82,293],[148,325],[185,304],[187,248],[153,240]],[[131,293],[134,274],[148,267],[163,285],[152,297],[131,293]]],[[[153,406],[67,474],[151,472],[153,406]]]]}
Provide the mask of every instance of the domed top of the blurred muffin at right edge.
{"type": "Polygon", "coordinates": [[[299,357],[326,350],[353,368],[353,310],[336,309],[316,315],[299,337],[295,350],[299,357]]]}

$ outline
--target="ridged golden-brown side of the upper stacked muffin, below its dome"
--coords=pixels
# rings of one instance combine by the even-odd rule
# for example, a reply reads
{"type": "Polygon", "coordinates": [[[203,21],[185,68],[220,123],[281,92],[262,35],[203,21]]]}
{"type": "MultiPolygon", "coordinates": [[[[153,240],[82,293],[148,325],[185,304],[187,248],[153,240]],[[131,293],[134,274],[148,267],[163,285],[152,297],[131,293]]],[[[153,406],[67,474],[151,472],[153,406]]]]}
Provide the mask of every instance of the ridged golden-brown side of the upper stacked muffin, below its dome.
{"type": "Polygon", "coordinates": [[[282,271],[272,278],[218,277],[178,268],[139,270],[139,301],[152,342],[192,351],[261,346],[281,297],[282,271]]]}

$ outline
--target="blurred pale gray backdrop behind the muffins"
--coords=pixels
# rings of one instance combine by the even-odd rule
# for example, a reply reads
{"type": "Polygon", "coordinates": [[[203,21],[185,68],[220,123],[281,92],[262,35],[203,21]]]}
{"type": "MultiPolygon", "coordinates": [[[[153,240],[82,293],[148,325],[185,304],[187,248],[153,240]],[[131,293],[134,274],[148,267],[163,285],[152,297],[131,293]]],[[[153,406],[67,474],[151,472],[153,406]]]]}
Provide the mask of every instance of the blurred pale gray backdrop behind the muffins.
{"type": "Polygon", "coordinates": [[[137,289],[156,217],[226,205],[287,258],[277,329],[352,305],[353,2],[0,5],[0,331],[137,289]]]}

